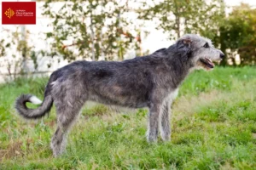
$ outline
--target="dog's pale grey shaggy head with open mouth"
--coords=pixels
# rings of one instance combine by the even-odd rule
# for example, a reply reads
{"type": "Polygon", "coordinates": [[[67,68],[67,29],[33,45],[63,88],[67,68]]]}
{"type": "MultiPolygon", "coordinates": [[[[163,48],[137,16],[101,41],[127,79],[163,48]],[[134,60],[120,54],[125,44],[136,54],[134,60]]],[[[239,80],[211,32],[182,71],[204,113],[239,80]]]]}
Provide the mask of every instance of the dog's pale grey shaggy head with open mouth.
{"type": "Polygon", "coordinates": [[[224,53],[214,48],[211,40],[195,34],[187,34],[177,40],[178,51],[182,50],[194,68],[211,70],[214,67],[212,61],[224,58],[224,53]]]}

